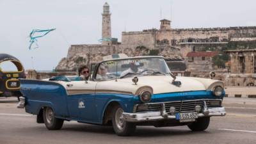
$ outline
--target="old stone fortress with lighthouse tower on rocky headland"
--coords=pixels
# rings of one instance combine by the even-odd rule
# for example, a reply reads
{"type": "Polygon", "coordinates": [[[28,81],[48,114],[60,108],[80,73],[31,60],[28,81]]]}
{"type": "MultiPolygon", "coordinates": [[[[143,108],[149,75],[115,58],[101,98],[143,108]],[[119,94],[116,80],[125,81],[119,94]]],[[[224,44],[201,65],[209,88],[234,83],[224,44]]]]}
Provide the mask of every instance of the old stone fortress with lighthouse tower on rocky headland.
{"type": "MultiPolygon", "coordinates": [[[[56,71],[76,71],[79,65],[90,65],[90,63],[101,61],[102,56],[116,53],[125,53],[128,56],[161,55],[166,61],[181,61],[187,66],[193,63],[193,67],[198,65],[195,68],[198,69],[201,64],[211,65],[205,60],[212,60],[212,58],[203,58],[204,55],[209,55],[207,51],[222,53],[228,49],[256,48],[256,26],[175,29],[172,28],[170,20],[163,19],[160,22],[159,29],[122,32],[122,42],[118,42],[117,38],[111,37],[111,13],[109,4],[105,3],[100,39],[102,44],[71,45],[67,58],[60,61],[56,71]],[[198,51],[204,51],[206,54],[203,54],[202,59],[198,61],[192,58],[191,62],[191,57],[187,56],[188,53],[198,51]]],[[[193,54],[189,54],[191,55],[193,54]]]]}

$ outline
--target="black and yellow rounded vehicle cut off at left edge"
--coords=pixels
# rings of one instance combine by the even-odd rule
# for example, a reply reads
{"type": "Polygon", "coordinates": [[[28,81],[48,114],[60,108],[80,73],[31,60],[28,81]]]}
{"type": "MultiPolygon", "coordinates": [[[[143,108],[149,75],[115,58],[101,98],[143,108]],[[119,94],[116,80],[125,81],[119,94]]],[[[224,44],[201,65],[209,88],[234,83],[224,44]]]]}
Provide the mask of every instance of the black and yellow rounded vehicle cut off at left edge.
{"type": "Polygon", "coordinates": [[[22,96],[19,78],[26,78],[20,61],[10,54],[0,54],[0,97],[15,96],[19,99],[22,96]],[[2,66],[6,63],[15,65],[17,69],[11,71],[4,70],[2,66]]]}

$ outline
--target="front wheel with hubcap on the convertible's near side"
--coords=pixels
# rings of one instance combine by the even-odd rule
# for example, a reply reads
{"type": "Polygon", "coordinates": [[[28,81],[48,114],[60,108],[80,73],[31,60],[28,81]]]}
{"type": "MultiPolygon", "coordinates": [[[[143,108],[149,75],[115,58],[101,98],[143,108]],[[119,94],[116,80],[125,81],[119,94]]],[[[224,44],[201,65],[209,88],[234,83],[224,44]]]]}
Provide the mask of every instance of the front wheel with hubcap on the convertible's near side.
{"type": "Polygon", "coordinates": [[[129,136],[135,131],[136,124],[131,122],[126,122],[124,120],[123,113],[124,113],[124,110],[120,106],[115,106],[115,108],[113,108],[113,115],[112,115],[113,129],[118,136],[129,136]]]}

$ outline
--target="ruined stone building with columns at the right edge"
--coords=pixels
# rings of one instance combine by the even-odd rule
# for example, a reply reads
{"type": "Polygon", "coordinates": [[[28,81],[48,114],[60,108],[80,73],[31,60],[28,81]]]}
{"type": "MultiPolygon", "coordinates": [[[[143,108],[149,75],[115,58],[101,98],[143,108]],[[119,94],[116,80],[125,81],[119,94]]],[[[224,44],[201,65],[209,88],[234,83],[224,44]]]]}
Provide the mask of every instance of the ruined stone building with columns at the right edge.
{"type": "Polygon", "coordinates": [[[230,56],[232,74],[256,74],[256,49],[225,51],[230,56]]]}

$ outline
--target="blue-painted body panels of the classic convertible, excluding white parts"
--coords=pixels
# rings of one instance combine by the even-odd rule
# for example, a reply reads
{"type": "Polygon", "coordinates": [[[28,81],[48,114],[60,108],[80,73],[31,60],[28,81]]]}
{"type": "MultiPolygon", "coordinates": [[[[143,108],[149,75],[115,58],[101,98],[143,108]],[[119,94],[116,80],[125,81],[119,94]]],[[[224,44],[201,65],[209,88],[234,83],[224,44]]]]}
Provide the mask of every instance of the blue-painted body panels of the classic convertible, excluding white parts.
{"type": "MultiPolygon", "coordinates": [[[[38,115],[40,109],[51,107],[56,117],[92,124],[102,124],[104,111],[111,102],[118,102],[126,113],[133,113],[136,104],[141,104],[134,95],[119,93],[89,93],[67,95],[65,88],[52,81],[20,79],[20,91],[26,98],[26,112],[38,115]],[[86,109],[79,109],[80,101],[86,101],[86,109]]],[[[223,99],[225,92],[218,99],[223,99]]],[[[169,102],[177,100],[216,99],[211,91],[160,93],[152,95],[151,102],[169,102]]]]}

